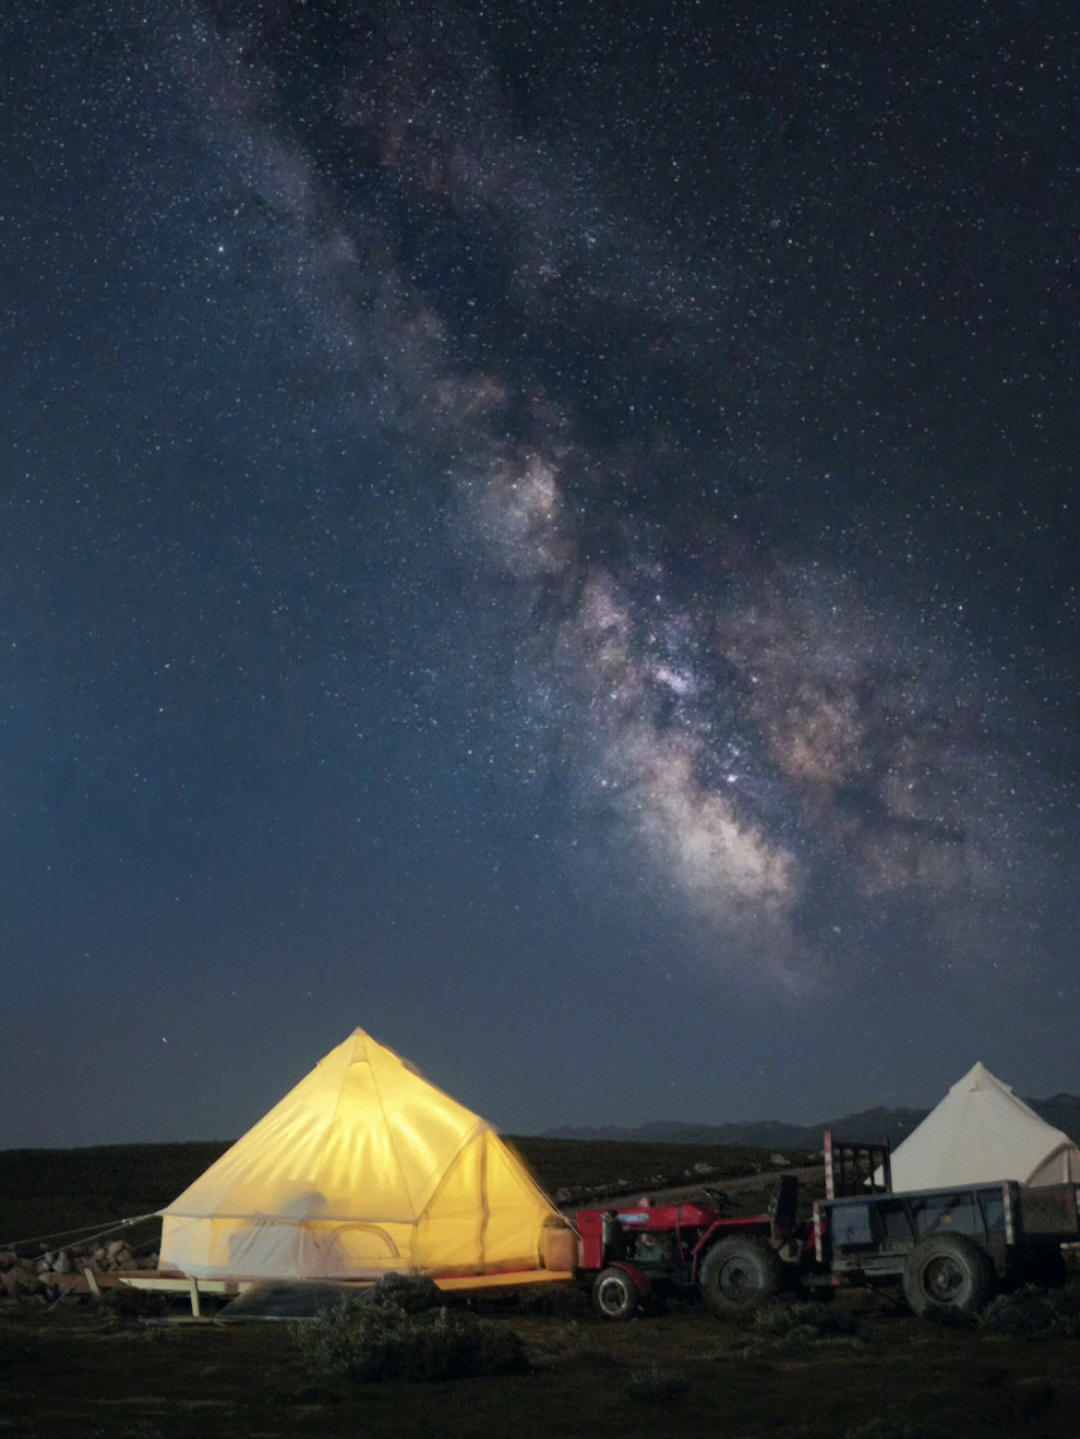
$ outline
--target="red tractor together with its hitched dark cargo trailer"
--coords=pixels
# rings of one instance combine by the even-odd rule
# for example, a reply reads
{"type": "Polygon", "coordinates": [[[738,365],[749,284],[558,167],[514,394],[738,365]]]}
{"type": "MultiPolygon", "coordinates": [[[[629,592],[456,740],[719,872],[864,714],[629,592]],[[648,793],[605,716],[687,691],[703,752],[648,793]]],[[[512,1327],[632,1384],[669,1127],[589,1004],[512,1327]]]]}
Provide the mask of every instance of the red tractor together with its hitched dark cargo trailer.
{"type": "Polygon", "coordinates": [[[798,1180],[779,1177],[762,1215],[702,1202],[578,1210],[580,1275],[595,1311],[628,1320],[664,1291],[699,1294],[713,1314],[751,1314],[782,1289],[828,1298],[900,1286],[910,1308],[974,1314],[1001,1289],[1057,1285],[1080,1256],[1080,1186],[1015,1180],[896,1194],[889,1145],[824,1137],[825,1197],[797,1220],[798,1180]]]}

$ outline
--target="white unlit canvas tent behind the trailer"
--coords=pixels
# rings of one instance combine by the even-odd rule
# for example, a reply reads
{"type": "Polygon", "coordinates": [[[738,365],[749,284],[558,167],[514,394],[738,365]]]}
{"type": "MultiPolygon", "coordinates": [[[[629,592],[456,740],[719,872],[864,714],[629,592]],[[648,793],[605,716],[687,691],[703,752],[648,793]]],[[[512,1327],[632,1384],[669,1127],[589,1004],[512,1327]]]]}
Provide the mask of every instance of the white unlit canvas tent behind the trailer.
{"type": "Polygon", "coordinates": [[[1080,1180],[1080,1150],[976,1063],[892,1156],[893,1190],[1080,1180]]]}

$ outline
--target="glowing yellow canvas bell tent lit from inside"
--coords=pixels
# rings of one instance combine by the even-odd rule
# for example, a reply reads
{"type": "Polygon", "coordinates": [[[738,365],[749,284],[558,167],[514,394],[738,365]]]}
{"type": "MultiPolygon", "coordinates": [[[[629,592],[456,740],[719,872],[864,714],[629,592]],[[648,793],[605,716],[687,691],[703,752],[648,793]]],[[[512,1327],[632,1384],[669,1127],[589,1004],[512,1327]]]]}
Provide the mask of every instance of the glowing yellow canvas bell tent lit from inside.
{"type": "Polygon", "coordinates": [[[355,1030],[163,1215],[197,1279],[538,1269],[558,1212],[495,1130],[355,1030]]]}

